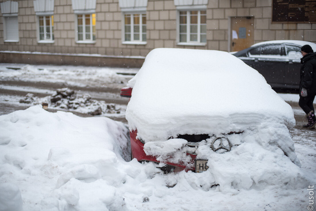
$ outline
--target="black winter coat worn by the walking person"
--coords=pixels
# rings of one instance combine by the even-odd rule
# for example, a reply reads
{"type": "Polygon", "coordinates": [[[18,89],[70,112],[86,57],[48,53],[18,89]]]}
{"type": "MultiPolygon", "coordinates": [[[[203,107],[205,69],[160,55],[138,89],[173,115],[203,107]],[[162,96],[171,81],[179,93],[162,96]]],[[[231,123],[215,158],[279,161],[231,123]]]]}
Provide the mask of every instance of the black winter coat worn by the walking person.
{"type": "Polygon", "coordinates": [[[301,59],[301,82],[302,88],[308,93],[316,93],[316,52],[308,53],[301,59]]]}

